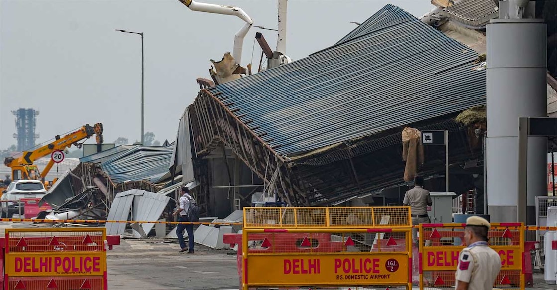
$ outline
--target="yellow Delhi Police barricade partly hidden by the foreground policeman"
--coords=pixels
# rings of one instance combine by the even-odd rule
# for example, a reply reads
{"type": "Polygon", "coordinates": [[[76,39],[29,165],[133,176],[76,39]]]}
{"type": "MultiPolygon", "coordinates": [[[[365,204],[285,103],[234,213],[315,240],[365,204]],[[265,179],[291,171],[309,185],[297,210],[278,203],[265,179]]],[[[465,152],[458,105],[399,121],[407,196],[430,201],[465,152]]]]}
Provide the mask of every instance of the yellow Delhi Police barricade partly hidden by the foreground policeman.
{"type": "MultiPolygon", "coordinates": [[[[454,289],[460,251],[466,247],[466,224],[419,225],[419,286],[454,289]]],[[[522,259],[524,226],[521,223],[491,223],[490,247],[501,256],[501,271],[494,289],[524,289],[522,259]]]]}

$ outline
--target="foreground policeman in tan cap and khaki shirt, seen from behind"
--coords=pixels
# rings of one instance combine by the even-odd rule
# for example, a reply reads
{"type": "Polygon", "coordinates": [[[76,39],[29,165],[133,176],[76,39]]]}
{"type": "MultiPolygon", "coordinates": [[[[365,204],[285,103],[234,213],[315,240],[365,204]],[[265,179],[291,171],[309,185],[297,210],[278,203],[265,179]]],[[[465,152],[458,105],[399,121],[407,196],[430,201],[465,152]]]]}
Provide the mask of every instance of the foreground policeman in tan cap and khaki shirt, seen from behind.
{"type": "Polygon", "coordinates": [[[456,289],[493,289],[501,269],[501,258],[487,244],[491,225],[486,219],[470,217],[466,220],[464,238],[468,248],[460,252],[456,271],[456,289]]]}

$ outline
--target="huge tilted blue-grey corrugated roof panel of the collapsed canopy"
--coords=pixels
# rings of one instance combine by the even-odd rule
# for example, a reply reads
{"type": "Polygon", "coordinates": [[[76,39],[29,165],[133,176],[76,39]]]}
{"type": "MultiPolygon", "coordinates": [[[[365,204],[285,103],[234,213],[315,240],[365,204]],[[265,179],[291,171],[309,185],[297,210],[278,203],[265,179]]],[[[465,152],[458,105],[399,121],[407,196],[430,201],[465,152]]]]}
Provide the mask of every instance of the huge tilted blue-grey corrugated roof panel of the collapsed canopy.
{"type": "Polygon", "coordinates": [[[209,92],[283,156],[485,104],[472,49],[392,5],[365,23],[344,42],[209,92]]]}

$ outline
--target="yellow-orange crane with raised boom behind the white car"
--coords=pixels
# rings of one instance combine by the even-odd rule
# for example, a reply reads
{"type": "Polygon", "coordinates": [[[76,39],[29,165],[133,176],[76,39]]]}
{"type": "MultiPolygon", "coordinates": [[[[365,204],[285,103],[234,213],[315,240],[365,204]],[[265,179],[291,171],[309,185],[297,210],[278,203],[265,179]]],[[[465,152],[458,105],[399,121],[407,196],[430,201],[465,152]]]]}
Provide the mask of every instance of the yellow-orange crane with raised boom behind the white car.
{"type": "Polygon", "coordinates": [[[50,155],[56,150],[70,148],[71,145],[81,148],[83,142],[78,142],[89,139],[93,135],[95,135],[97,144],[102,144],[102,124],[97,123],[94,126],[86,124],[79,130],[67,134],[66,136],[60,137],[60,135],[57,135],[54,141],[41,148],[33,151],[24,151],[19,157],[7,157],[4,160],[4,164],[12,169],[12,180],[38,179],[44,182],[45,176],[52,168],[52,165],[54,165],[54,160],[51,159],[48,161],[48,164],[42,172],[39,171],[37,165],[34,164],[35,160],[50,155]]]}

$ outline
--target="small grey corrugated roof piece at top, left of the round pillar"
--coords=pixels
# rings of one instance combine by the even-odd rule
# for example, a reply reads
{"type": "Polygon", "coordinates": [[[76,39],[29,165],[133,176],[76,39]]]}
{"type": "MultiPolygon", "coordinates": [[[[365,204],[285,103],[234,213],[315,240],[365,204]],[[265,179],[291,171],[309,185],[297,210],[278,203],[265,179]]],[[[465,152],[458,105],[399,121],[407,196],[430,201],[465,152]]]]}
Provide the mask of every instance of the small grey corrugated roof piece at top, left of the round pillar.
{"type": "Polygon", "coordinates": [[[499,8],[493,0],[462,0],[442,9],[440,14],[468,26],[483,28],[490,19],[499,17],[499,8]]]}

